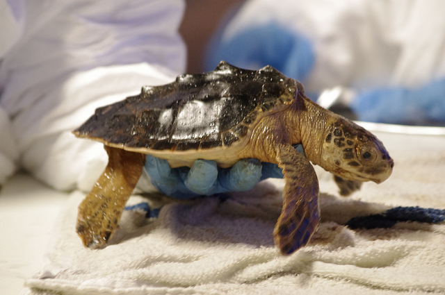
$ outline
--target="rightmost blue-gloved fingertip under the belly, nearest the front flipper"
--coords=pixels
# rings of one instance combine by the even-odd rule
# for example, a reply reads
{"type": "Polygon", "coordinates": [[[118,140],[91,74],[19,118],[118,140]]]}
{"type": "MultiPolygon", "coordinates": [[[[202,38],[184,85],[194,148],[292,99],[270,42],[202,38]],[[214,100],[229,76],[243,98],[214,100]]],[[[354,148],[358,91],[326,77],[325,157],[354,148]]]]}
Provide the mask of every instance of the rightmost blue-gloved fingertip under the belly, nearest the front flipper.
{"type": "Polygon", "coordinates": [[[223,188],[221,192],[243,192],[257,185],[260,178],[261,162],[258,159],[242,159],[221,171],[218,182],[223,188]]]}

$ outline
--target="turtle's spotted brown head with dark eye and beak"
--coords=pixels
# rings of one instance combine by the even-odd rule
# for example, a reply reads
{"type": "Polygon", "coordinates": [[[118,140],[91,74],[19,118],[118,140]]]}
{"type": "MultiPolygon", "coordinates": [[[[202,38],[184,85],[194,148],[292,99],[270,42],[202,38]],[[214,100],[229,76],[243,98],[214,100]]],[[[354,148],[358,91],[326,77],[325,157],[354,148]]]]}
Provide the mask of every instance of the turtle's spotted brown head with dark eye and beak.
{"type": "Polygon", "coordinates": [[[337,118],[323,137],[321,166],[346,180],[382,183],[392,172],[394,160],[372,133],[337,118]]]}

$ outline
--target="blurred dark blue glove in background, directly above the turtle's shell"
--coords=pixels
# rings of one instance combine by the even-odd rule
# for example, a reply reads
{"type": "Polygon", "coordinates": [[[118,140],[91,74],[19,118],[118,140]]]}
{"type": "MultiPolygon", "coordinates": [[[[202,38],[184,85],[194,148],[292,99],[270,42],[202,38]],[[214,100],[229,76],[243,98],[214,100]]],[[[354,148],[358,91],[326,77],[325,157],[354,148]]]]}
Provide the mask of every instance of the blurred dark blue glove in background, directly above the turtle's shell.
{"type": "Polygon", "coordinates": [[[211,71],[220,60],[236,67],[275,67],[284,75],[302,81],[314,65],[314,49],[304,36],[274,22],[246,28],[230,40],[216,33],[207,50],[205,69],[211,71]]]}

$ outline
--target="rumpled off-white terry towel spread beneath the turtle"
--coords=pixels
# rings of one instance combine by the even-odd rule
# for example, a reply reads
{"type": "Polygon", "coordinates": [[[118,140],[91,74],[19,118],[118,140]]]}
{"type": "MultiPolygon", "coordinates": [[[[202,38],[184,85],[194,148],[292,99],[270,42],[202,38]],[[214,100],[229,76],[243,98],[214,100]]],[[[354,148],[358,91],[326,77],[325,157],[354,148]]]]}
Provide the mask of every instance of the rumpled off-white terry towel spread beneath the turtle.
{"type": "MultiPolygon", "coordinates": [[[[445,137],[378,136],[395,159],[394,174],[342,198],[330,176],[317,169],[321,191],[329,192],[320,197],[322,221],[309,245],[293,255],[284,257],[273,245],[282,180],[229,199],[168,203],[157,219],[127,210],[111,244],[95,251],[74,232],[76,206],[84,197],[74,192],[47,264],[26,281],[22,294],[444,293],[443,221],[345,226],[353,217],[396,206],[445,208],[445,137]]],[[[143,201],[132,196],[129,203],[143,201]]]]}

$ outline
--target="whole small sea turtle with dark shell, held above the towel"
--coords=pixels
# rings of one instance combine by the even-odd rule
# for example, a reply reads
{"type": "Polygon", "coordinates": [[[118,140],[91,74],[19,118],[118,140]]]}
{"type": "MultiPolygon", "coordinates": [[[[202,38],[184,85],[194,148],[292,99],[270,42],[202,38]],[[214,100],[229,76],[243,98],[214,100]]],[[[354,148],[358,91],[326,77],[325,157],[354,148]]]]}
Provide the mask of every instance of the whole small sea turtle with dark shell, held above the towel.
{"type": "Polygon", "coordinates": [[[143,87],[137,96],[98,108],[73,133],[103,142],[109,158],[79,205],[76,232],[89,248],[113,235],[145,154],[170,167],[191,167],[197,159],[220,167],[243,158],[277,164],[286,185],[273,237],[283,254],[305,246],[318,226],[311,162],[332,172],[343,194],[362,181],[381,183],[394,165],[374,135],[316,105],[298,81],[270,66],[252,71],[220,62],[214,71],[143,87]],[[293,144],[302,144],[306,157],[293,144]]]}

